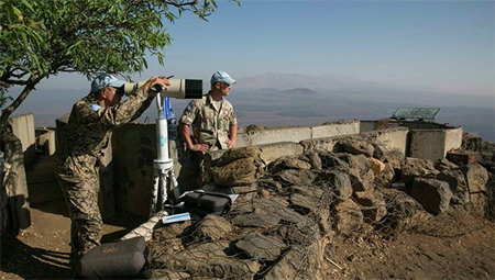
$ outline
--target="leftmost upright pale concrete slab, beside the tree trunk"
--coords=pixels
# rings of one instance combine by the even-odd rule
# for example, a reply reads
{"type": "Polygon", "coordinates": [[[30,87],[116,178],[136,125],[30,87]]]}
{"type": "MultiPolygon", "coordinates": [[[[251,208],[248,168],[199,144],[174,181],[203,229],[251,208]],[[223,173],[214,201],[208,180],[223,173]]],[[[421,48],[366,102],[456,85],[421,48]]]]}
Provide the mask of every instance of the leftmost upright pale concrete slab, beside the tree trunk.
{"type": "Polygon", "coordinates": [[[36,135],[34,132],[34,115],[23,114],[9,119],[13,134],[21,141],[24,153],[24,165],[29,165],[36,155],[36,135]]]}

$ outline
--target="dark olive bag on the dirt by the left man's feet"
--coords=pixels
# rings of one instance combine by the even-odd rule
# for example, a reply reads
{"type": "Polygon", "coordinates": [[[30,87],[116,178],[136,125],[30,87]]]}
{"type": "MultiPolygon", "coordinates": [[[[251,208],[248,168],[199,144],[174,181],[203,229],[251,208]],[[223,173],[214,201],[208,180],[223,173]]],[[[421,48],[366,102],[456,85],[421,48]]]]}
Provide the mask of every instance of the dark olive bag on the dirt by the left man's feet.
{"type": "Polygon", "coordinates": [[[107,243],[90,249],[76,269],[76,279],[150,279],[150,251],[143,237],[107,243]]]}

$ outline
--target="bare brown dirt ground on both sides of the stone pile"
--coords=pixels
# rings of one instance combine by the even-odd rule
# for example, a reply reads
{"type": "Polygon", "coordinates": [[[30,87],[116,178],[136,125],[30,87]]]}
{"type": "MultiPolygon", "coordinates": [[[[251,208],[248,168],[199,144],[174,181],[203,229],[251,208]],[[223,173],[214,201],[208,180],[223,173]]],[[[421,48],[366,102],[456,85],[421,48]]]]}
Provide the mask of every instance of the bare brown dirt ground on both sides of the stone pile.
{"type": "MultiPolygon", "coordinates": [[[[70,278],[69,220],[54,206],[32,209],[30,229],[2,236],[1,279],[70,278]]],[[[129,228],[107,224],[106,239],[129,228]]],[[[422,232],[337,239],[324,256],[327,279],[495,279],[495,225],[461,210],[422,232]]]]}

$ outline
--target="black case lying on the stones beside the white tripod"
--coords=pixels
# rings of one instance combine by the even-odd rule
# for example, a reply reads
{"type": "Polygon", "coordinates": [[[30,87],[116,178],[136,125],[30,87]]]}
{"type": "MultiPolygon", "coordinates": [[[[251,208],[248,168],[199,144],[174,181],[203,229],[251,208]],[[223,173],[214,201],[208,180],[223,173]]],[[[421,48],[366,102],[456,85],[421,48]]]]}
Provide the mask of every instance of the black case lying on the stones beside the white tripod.
{"type": "Polygon", "coordinates": [[[223,193],[193,191],[184,197],[184,209],[199,216],[221,215],[229,211],[231,205],[232,199],[223,193]]]}

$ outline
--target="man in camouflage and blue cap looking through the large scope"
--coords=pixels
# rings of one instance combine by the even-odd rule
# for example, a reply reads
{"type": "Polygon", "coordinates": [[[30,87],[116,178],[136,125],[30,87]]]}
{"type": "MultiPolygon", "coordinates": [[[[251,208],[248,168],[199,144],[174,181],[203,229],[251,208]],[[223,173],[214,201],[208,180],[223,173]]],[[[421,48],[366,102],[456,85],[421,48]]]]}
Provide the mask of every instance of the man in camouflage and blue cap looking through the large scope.
{"type": "Polygon", "coordinates": [[[113,128],[138,119],[150,107],[156,96],[150,90],[154,83],[169,86],[164,77],[132,85],[101,74],[92,81],[91,92],[73,107],[61,137],[56,165],[56,178],[72,220],[73,266],[89,249],[100,245],[102,236],[98,208],[101,150],[113,128]],[[128,100],[120,102],[124,93],[128,100]]]}

